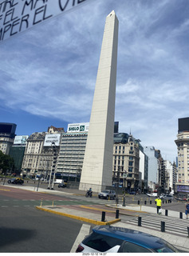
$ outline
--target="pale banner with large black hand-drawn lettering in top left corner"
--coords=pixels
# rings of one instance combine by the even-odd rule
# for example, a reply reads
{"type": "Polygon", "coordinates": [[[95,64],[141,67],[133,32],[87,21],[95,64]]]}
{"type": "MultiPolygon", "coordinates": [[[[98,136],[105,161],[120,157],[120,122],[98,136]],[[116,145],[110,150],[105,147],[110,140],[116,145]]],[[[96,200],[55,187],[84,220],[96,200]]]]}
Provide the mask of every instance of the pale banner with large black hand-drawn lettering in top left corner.
{"type": "Polygon", "coordinates": [[[0,0],[0,41],[89,0],[0,0]]]}

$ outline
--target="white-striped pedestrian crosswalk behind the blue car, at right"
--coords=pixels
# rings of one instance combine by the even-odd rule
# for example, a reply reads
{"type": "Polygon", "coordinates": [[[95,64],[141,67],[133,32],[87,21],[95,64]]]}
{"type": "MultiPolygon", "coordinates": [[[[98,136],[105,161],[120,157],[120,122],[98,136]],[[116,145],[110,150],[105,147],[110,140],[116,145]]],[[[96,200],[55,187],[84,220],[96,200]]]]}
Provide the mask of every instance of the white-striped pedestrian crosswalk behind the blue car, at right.
{"type": "MultiPolygon", "coordinates": [[[[127,223],[138,226],[138,218],[132,218],[127,223]]],[[[141,226],[161,231],[161,222],[165,222],[165,232],[186,237],[189,230],[189,220],[169,216],[146,214],[141,217],[141,226]],[[188,228],[187,228],[188,227],[188,228]]]]}

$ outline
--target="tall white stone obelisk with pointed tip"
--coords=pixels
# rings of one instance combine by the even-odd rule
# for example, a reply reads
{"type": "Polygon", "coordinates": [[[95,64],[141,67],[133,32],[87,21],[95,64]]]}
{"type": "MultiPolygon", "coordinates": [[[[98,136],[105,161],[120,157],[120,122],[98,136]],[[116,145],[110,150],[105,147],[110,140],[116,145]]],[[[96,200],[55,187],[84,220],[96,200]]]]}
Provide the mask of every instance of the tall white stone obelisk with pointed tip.
{"type": "Polygon", "coordinates": [[[80,190],[99,192],[112,186],[118,24],[113,10],[104,26],[80,190]]]}

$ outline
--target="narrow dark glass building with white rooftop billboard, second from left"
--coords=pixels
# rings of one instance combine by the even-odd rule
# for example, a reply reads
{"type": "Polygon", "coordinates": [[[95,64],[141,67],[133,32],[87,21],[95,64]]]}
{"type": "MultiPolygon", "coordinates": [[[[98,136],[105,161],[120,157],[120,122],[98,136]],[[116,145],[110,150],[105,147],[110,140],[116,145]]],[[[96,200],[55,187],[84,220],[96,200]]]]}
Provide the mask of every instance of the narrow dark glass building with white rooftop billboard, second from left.
{"type": "Polygon", "coordinates": [[[28,135],[15,136],[14,145],[10,147],[10,156],[14,158],[14,173],[21,174],[22,162],[26,149],[28,135]]]}

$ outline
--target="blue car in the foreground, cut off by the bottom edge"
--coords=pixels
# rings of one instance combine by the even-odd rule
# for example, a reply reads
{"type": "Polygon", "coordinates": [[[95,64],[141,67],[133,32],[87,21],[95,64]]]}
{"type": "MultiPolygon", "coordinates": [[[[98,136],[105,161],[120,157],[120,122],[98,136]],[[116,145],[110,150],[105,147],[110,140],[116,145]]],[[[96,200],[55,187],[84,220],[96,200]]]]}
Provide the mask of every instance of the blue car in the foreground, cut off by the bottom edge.
{"type": "Polygon", "coordinates": [[[162,238],[117,226],[95,226],[77,253],[179,253],[162,238]]]}

